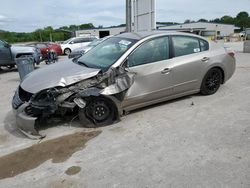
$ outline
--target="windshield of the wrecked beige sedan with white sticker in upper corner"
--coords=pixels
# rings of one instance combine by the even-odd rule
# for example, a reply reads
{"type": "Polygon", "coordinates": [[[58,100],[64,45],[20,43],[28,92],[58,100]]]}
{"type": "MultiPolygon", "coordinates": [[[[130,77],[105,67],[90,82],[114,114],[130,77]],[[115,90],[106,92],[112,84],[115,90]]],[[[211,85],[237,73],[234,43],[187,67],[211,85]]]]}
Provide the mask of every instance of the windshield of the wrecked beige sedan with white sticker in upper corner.
{"type": "Polygon", "coordinates": [[[87,67],[108,69],[136,42],[127,38],[109,38],[84,54],[78,63],[87,67]]]}

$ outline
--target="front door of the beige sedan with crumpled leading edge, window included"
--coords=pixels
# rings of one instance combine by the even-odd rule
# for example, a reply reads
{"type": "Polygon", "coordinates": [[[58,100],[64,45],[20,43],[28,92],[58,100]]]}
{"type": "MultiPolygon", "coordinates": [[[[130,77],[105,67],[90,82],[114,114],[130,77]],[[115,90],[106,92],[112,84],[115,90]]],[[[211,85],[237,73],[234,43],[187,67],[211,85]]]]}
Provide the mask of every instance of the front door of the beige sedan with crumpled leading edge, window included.
{"type": "Polygon", "coordinates": [[[168,36],[144,42],[128,57],[129,71],[136,75],[126,93],[123,108],[145,106],[173,93],[169,57],[168,36]]]}

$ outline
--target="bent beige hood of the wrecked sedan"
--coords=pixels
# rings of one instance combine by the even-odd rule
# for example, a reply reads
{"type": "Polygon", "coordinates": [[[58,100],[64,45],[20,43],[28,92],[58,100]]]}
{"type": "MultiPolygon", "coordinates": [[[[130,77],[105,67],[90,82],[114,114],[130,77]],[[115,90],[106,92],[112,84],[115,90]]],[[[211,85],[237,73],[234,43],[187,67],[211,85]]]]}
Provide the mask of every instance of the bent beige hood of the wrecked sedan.
{"type": "Polygon", "coordinates": [[[88,68],[72,61],[58,62],[28,74],[21,87],[30,93],[37,93],[44,89],[77,83],[96,76],[99,72],[100,69],[88,68]]]}

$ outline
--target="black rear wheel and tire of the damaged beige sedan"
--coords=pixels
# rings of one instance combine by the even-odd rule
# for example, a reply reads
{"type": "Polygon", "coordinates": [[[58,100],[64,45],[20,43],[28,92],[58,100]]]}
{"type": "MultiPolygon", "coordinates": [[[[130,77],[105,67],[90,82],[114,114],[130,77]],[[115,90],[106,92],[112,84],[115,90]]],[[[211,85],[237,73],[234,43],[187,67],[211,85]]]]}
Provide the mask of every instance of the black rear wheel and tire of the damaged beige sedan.
{"type": "Polygon", "coordinates": [[[201,94],[213,95],[218,91],[222,83],[222,72],[218,68],[210,69],[201,84],[201,94]]]}

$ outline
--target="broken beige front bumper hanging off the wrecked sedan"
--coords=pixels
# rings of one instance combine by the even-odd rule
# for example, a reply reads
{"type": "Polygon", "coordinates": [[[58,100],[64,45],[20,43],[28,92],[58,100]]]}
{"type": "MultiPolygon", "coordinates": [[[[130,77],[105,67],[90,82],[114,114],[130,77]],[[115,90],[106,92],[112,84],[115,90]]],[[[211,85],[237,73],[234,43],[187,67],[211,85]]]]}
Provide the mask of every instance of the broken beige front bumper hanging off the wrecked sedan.
{"type": "Polygon", "coordinates": [[[31,139],[42,139],[45,136],[38,133],[35,124],[37,117],[31,117],[26,114],[25,109],[29,106],[28,103],[22,104],[19,108],[14,109],[13,112],[16,118],[17,128],[31,139]]]}

